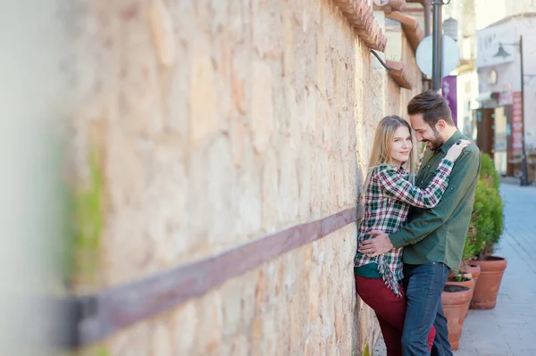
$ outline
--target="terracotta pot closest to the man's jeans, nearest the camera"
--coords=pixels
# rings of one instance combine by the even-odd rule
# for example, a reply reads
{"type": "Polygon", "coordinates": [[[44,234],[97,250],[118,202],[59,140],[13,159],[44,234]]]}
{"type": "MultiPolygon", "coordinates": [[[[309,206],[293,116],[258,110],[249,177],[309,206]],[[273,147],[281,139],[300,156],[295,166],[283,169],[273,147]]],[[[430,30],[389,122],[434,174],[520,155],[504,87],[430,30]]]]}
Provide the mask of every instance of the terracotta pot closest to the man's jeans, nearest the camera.
{"type": "Polygon", "coordinates": [[[452,350],[457,350],[464,328],[465,308],[471,301],[471,289],[468,286],[444,286],[441,304],[447,318],[448,342],[452,350]]]}

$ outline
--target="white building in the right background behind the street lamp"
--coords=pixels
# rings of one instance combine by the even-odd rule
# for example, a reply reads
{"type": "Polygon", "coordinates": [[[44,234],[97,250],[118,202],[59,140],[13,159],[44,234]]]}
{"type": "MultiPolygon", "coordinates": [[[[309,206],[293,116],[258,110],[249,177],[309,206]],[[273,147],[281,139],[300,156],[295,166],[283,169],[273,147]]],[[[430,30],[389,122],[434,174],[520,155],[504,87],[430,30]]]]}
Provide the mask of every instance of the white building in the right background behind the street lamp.
{"type": "Polygon", "coordinates": [[[534,178],[536,163],[533,160],[536,154],[536,46],[532,40],[536,36],[535,27],[536,13],[526,12],[478,31],[476,66],[481,109],[475,112],[474,122],[481,149],[494,156],[502,174],[519,174],[524,138],[530,178],[534,178]]]}

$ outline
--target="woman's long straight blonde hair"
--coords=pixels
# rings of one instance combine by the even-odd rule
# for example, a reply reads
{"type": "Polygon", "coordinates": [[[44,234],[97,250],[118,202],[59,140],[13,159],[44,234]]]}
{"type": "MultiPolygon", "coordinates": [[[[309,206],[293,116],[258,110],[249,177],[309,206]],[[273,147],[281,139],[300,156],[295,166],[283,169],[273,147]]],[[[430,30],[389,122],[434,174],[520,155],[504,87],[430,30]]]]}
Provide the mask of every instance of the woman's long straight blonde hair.
{"type": "MultiPolygon", "coordinates": [[[[415,140],[411,131],[409,123],[397,115],[386,116],[380,120],[378,126],[376,127],[376,132],[374,133],[374,142],[373,142],[373,151],[369,159],[369,165],[367,170],[367,175],[364,180],[364,195],[366,194],[366,189],[370,183],[371,177],[373,175],[373,170],[381,165],[394,165],[394,162],[390,156],[391,147],[395,139],[395,132],[398,128],[405,127],[409,131],[413,147],[415,147],[415,140]]],[[[408,160],[402,166],[404,170],[409,172],[410,180],[413,181],[415,176],[415,150],[411,150],[408,160]]]]}

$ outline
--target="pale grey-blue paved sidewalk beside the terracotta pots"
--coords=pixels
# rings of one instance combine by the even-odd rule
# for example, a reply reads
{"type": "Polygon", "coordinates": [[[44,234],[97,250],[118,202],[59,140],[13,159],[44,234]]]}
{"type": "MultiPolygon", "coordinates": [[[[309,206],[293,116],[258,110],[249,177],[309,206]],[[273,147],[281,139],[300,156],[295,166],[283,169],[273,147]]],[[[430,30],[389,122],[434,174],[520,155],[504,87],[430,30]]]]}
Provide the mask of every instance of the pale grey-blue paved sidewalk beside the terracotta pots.
{"type": "MultiPolygon", "coordinates": [[[[504,182],[501,195],[506,227],[496,254],[508,266],[497,306],[469,310],[455,356],[536,356],[536,187],[504,182]]],[[[386,355],[383,339],[373,355],[386,355]]]]}

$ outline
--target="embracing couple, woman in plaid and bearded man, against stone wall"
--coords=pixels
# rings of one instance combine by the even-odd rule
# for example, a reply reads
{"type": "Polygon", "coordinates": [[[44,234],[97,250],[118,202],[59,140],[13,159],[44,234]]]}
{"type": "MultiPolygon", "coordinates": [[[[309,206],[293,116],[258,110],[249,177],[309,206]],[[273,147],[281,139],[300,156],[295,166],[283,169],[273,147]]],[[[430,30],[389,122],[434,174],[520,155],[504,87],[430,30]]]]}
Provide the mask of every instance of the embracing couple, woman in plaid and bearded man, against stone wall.
{"type": "Polygon", "coordinates": [[[460,265],[480,153],[456,129],[441,95],[416,95],[407,113],[427,150],[415,167],[407,121],[388,116],[376,128],[356,292],[376,312],[388,356],[452,355],[441,292],[449,269],[460,265]]]}

